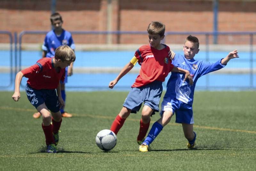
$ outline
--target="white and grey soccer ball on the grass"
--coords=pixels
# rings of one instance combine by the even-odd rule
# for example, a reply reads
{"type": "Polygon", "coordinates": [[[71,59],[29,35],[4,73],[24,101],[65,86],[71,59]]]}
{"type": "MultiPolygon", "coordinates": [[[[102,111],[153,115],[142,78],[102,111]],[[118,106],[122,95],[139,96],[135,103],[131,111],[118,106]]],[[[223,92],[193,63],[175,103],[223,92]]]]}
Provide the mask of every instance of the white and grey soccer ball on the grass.
{"type": "Polygon", "coordinates": [[[103,129],[100,132],[98,132],[96,138],[95,138],[97,146],[104,151],[109,151],[112,148],[116,146],[116,134],[109,130],[109,129],[103,129]]]}

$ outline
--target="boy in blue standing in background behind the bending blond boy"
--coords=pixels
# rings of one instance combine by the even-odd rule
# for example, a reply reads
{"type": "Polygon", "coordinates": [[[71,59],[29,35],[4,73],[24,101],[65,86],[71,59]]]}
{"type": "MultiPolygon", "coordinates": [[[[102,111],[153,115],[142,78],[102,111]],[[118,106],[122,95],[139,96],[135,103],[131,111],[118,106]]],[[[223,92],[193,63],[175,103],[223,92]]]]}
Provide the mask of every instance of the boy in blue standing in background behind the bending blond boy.
{"type": "MultiPolygon", "coordinates": [[[[63,20],[61,15],[58,12],[55,12],[50,17],[53,30],[48,32],[44,39],[44,44],[42,45],[43,49],[43,58],[44,57],[54,57],[55,50],[61,45],[68,45],[73,51],[75,51],[75,44],[72,39],[71,34],[62,28],[63,20]]],[[[66,93],[65,93],[65,83],[67,83],[68,77],[73,74],[73,62],[69,67],[66,67],[66,77],[64,82],[61,81],[60,89],[61,96],[66,101],[66,93]]],[[[72,117],[72,114],[64,111],[64,108],[60,110],[62,117],[72,117]]],[[[34,118],[39,118],[40,113],[36,112],[33,114],[34,118]]]]}

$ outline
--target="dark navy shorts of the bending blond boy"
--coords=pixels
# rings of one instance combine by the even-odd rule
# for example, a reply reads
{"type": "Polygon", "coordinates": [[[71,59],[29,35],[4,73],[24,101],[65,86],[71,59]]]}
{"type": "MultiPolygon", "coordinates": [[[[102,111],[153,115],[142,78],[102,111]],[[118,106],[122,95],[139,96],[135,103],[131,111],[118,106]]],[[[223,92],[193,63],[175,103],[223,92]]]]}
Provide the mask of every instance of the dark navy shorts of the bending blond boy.
{"type": "Polygon", "coordinates": [[[58,100],[57,92],[55,89],[41,89],[36,90],[26,85],[26,94],[30,103],[37,108],[39,105],[45,103],[46,107],[51,112],[60,111],[60,102],[58,100]]]}

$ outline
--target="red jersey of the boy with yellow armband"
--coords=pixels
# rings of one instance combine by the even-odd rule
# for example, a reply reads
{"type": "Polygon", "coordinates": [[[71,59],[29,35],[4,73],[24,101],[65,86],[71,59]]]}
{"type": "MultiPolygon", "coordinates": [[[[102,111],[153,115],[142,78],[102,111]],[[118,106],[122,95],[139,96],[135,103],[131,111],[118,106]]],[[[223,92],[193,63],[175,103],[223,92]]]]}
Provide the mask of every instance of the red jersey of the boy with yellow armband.
{"type": "Polygon", "coordinates": [[[156,80],[164,82],[173,68],[172,60],[168,56],[170,48],[167,45],[164,46],[164,49],[157,50],[147,44],[135,52],[134,56],[138,59],[141,68],[132,87],[141,87],[156,80]]]}

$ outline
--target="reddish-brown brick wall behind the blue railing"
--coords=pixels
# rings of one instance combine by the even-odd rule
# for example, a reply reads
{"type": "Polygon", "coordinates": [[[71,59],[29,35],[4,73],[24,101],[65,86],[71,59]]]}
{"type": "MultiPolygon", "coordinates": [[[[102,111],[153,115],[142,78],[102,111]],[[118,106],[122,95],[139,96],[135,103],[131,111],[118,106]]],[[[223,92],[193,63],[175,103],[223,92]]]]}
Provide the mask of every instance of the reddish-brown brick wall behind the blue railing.
{"type": "MultiPolygon", "coordinates": [[[[256,1],[220,0],[219,31],[255,31],[256,1]]],[[[158,20],[166,31],[212,31],[212,1],[209,0],[112,0],[111,28],[113,31],[146,31],[148,24],[158,20]]],[[[56,11],[63,17],[68,31],[106,31],[108,0],[57,1],[56,11]]],[[[51,29],[51,0],[2,0],[0,30],[51,29]]],[[[75,43],[106,43],[106,35],[73,35],[75,43]]],[[[147,43],[145,35],[113,35],[113,43],[147,43]]],[[[241,42],[247,37],[220,36],[220,43],[241,42]]],[[[182,43],[185,35],[167,36],[166,43],[182,43]]],[[[44,35],[24,35],[24,43],[42,43],[44,35]]],[[[212,37],[210,37],[212,39],[212,37]]],[[[204,42],[204,37],[200,39],[204,42]]],[[[0,42],[6,43],[5,35],[0,42]]]]}

